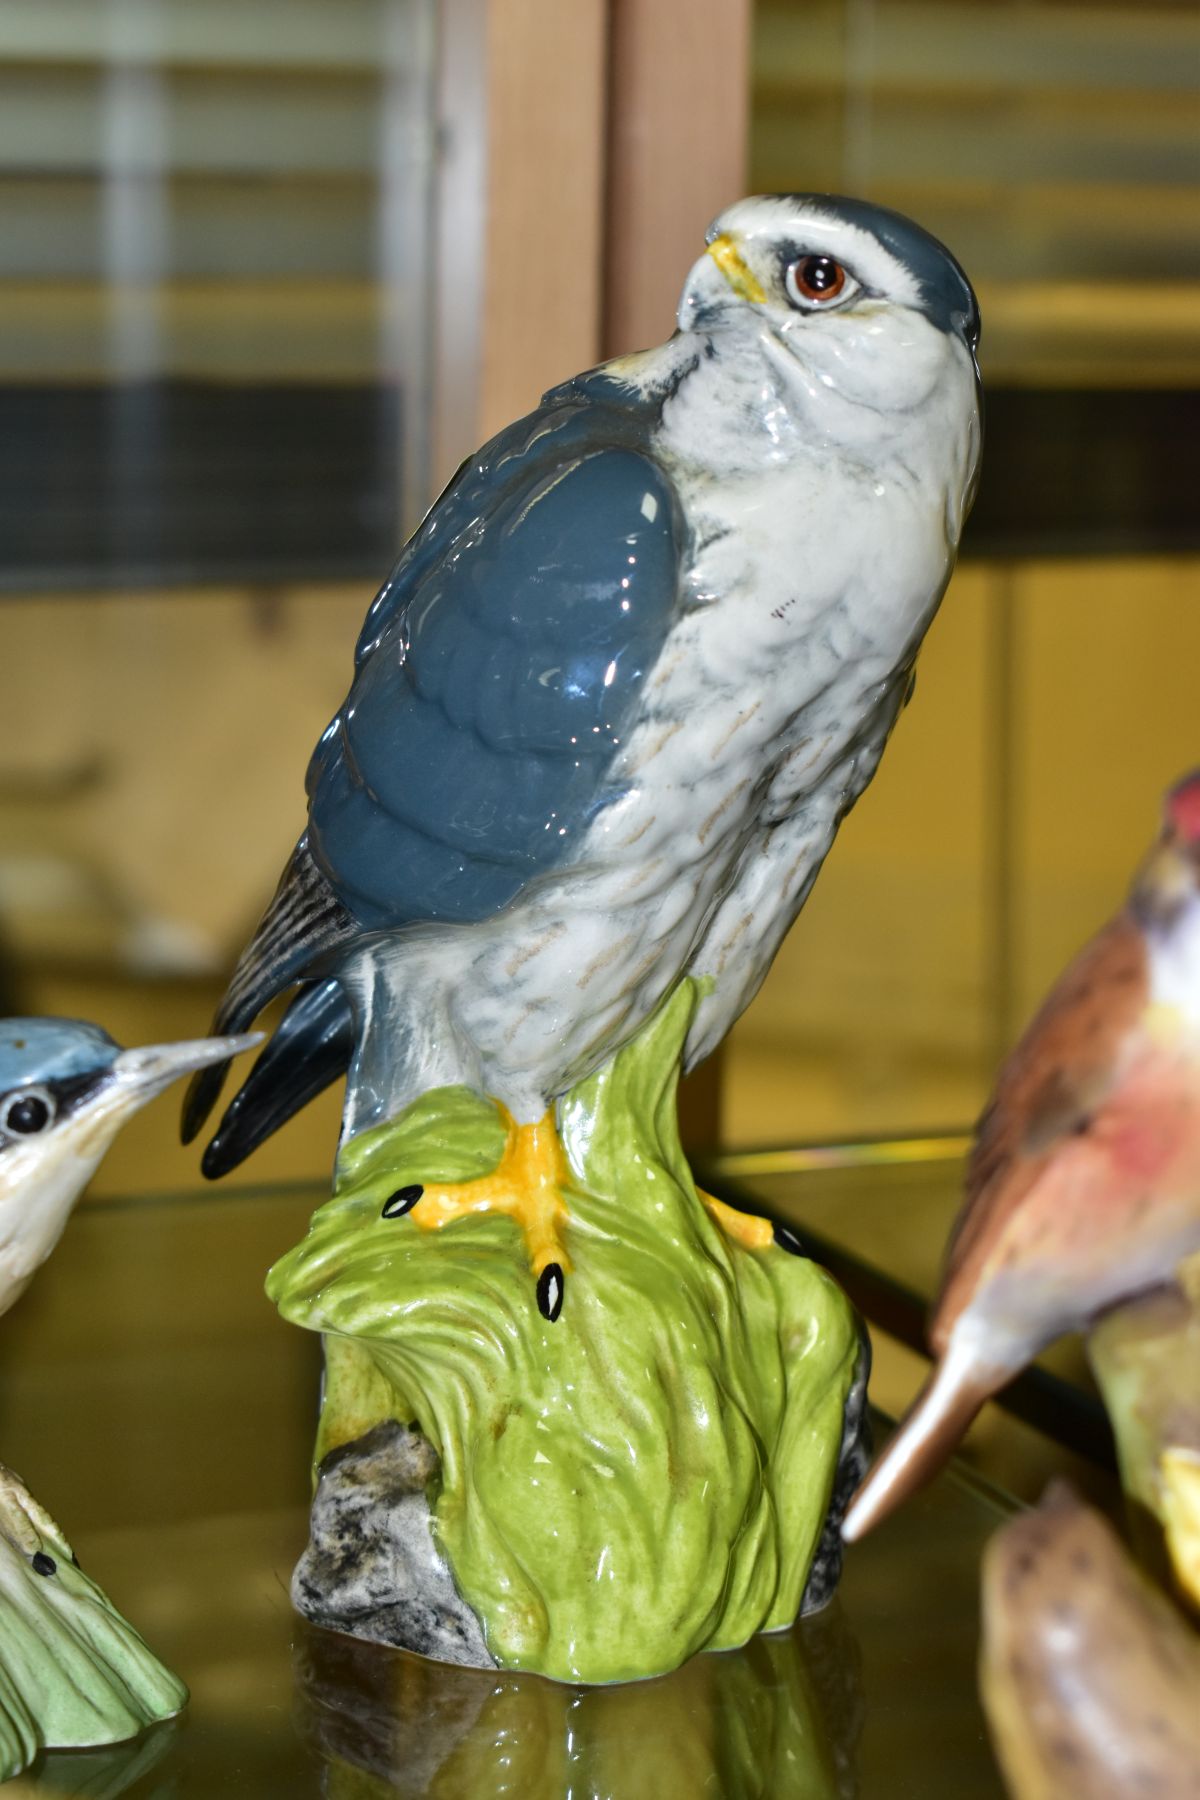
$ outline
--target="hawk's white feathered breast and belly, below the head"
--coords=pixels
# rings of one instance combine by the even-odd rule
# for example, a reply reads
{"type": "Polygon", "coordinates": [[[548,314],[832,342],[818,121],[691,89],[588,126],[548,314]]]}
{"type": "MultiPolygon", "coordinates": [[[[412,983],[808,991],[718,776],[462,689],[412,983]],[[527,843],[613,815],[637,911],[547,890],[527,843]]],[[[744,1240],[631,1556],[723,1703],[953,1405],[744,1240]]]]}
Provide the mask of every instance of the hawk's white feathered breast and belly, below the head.
{"type": "Polygon", "coordinates": [[[700,1033],[720,1037],[871,778],[954,558],[970,356],[957,387],[871,434],[858,412],[838,428],[846,403],[815,378],[786,394],[748,331],[714,355],[682,335],[631,365],[684,376],[655,448],[691,560],[612,799],[569,864],[470,940],[414,938],[403,967],[362,954],[351,1134],[453,1080],[533,1120],[687,970],[716,977],[700,1033]],[[407,1046],[378,1102],[372,1021],[407,1046]]]}

